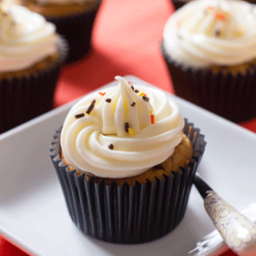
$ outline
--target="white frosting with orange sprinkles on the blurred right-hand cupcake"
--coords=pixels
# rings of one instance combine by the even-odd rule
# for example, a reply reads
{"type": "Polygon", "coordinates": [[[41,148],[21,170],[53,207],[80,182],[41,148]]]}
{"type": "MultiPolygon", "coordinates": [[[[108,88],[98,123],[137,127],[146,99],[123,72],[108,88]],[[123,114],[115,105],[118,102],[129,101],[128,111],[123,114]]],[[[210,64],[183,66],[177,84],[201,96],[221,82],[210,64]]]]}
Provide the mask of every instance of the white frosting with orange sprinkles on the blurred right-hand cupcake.
{"type": "Polygon", "coordinates": [[[244,1],[192,1],[167,21],[164,48],[185,66],[242,64],[256,58],[255,23],[244,1]]]}

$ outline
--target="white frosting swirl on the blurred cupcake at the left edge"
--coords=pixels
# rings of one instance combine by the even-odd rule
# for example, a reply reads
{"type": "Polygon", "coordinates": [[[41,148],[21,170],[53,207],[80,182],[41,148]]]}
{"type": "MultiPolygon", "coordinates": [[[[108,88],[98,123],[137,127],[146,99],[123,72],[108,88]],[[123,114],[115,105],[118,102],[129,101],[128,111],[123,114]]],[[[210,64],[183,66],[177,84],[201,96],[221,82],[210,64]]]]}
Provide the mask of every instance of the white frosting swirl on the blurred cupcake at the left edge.
{"type": "Polygon", "coordinates": [[[0,72],[29,68],[57,51],[52,23],[26,7],[0,6],[0,72]]]}

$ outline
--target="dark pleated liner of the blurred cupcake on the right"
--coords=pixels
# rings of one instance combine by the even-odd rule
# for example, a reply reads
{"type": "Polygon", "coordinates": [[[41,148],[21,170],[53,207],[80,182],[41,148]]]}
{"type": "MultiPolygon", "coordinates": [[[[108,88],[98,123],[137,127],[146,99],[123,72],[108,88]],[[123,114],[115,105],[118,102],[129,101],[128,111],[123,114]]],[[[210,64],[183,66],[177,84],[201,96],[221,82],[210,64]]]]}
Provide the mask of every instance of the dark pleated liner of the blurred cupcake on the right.
{"type": "Polygon", "coordinates": [[[256,67],[246,72],[213,73],[184,68],[161,44],[175,94],[235,123],[256,117],[256,67]]]}

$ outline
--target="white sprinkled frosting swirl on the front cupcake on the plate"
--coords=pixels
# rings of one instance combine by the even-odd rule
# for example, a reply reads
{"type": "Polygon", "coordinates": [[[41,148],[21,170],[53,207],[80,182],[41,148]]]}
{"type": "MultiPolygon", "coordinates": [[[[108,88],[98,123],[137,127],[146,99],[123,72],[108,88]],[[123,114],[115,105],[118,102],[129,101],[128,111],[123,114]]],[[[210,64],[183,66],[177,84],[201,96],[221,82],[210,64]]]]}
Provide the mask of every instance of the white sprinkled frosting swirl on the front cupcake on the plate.
{"type": "Polygon", "coordinates": [[[184,126],[179,107],[162,91],[134,86],[140,90],[136,93],[124,78],[116,79],[118,86],[106,88],[104,96],[94,92],[78,101],[61,131],[66,161],[104,178],[135,176],[164,162],[182,141],[184,126]],[[95,106],[88,115],[93,100],[95,106]],[[75,118],[79,114],[85,116],[75,118]]]}

